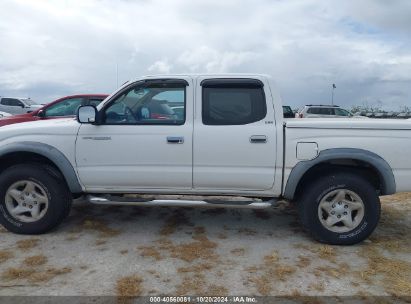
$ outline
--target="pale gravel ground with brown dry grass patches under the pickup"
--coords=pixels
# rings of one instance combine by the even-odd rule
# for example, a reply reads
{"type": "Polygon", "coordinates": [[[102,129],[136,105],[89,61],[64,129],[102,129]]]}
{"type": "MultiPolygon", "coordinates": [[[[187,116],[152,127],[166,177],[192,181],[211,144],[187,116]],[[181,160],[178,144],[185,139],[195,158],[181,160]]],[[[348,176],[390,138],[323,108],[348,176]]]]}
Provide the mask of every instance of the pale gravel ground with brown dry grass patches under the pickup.
{"type": "Polygon", "coordinates": [[[411,296],[411,194],[360,245],[326,246],[295,210],[93,206],[41,236],[0,226],[0,295],[411,296]]]}

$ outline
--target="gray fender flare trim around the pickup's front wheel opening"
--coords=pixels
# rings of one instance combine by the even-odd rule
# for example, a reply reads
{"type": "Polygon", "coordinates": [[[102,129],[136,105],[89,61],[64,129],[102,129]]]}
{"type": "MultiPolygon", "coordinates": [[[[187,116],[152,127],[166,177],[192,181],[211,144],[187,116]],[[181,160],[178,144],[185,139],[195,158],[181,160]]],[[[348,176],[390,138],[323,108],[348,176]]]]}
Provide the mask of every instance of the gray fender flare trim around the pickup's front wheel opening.
{"type": "Polygon", "coordinates": [[[0,157],[13,152],[32,152],[48,158],[60,169],[72,193],[81,193],[83,189],[76,172],[67,157],[56,148],[38,142],[18,142],[0,147],[0,157]]]}

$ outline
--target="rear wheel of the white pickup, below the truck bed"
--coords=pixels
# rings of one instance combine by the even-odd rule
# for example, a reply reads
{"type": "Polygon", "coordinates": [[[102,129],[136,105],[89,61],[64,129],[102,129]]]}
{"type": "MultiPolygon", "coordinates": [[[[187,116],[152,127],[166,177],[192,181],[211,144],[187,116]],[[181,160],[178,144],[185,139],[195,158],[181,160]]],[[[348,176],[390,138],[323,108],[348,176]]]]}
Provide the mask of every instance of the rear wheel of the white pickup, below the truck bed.
{"type": "Polygon", "coordinates": [[[334,245],[366,239],[381,210],[373,185],[352,173],[331,174],[307,184],[298,204],[303,226],[318,241],[334,245]]]}

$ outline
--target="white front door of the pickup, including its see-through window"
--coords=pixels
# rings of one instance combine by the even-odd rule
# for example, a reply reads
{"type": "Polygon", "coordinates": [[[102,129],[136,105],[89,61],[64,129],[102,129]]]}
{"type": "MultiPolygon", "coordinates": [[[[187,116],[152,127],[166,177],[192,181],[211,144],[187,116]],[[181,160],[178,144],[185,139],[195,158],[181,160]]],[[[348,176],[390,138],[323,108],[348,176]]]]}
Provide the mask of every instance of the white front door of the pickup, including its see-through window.
{"type": "Polygon", "coordinates": [[[101,107],[98,120],[81,126],[76,145],[88,191],[192,188],[191,78],[130,84],[101,107]]]}

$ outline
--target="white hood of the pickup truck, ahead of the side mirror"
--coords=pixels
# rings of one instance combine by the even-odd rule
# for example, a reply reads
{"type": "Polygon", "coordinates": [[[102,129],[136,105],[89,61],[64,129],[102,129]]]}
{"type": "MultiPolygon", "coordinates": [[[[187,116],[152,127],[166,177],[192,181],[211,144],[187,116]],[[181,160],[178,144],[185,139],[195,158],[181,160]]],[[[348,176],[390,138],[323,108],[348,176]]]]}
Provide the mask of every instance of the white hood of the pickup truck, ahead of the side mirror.
{"type": "Polygon", "coordinates": [[[23,122],[19,124],[0,127],[0,141],[12,137],[30,138],[38,135],[59,136],[76,135],[80,124],[73,118],[50,119],[41,121],[23,122]]]}

